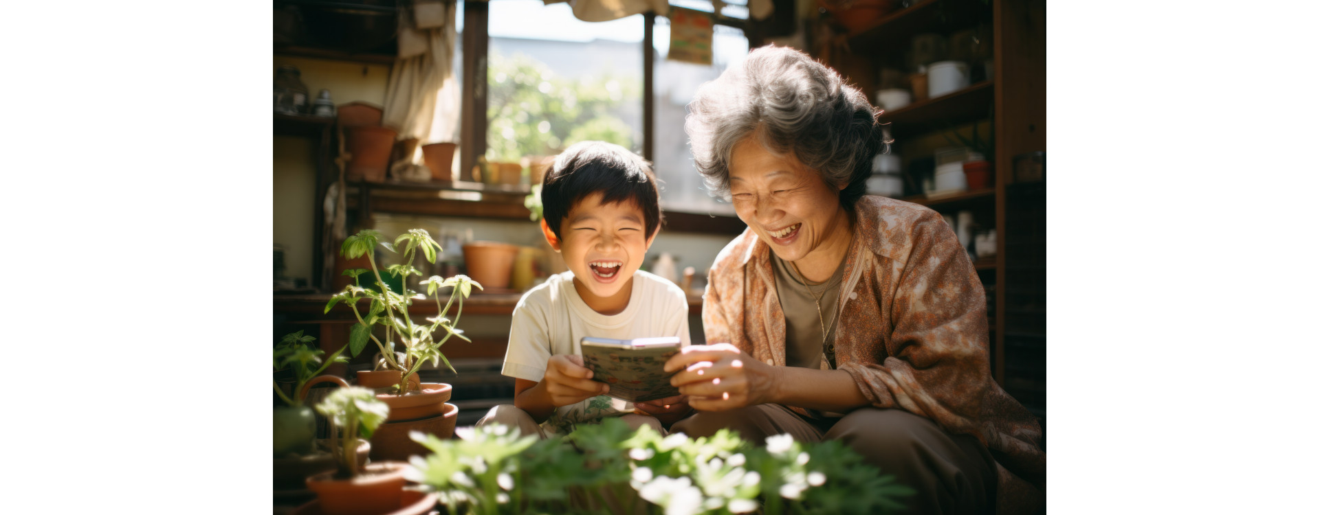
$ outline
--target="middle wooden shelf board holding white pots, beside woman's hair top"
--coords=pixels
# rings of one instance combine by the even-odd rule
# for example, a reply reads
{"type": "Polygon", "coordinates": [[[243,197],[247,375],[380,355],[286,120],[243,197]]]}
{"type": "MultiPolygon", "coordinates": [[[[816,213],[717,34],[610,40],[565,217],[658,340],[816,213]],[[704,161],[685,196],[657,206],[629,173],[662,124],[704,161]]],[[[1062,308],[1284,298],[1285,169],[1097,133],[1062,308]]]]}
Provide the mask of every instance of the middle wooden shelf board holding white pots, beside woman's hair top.
{"type": "Polygon", "coordinates": [[[921,134],[952,129],[970,121],[990,117],[994,105],[994,80],[982,80],[952,94],[925,99],[886,111],[882,122],[888,122],[894,136],[921,134]]]}

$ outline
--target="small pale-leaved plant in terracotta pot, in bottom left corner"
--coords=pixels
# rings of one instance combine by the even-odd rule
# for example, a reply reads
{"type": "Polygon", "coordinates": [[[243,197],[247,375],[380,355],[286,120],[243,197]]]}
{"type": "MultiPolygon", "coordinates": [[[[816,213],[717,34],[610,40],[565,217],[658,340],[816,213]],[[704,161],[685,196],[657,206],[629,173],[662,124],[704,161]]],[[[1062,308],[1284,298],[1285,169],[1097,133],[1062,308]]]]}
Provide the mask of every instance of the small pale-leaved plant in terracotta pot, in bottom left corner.
{"type": "Polygon", "coordinates": [[[308,489],[317,493],[317,499],[298,507],[298,514],[430,512],[434,495],[404,490],[408,464],[384,461],[363,466],[356,460],[358,448],[367,444],[363,439],[370,439],[389,416],[389,406],[376,400],[374,391],[359,386],[335,390],[317,404],[317,411],[330,420],[337,468],[308,478],[308,489]]]}

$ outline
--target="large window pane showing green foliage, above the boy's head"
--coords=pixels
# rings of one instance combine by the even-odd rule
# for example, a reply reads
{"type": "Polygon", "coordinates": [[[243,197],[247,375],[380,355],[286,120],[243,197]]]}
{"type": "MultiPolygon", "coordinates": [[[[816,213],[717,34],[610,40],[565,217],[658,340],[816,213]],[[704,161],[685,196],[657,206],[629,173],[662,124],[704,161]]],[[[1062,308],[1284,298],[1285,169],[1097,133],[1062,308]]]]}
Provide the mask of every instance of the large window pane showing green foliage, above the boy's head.
{"type": "Polygon", "coordinates": [[[562,3],[491,1],[486,158],[517,162],[583,140],[640,154],[642,20],[586,22],[562,3]]]}

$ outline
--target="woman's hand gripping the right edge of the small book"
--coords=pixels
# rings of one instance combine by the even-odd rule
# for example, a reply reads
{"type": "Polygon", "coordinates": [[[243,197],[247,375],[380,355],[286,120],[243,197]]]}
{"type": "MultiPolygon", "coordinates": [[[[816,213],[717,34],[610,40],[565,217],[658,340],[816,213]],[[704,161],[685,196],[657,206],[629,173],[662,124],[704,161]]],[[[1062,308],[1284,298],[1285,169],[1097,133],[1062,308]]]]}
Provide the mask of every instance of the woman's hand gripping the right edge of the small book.
{"type": "Polygon", "coordinates": [[[731,344],[685,346],[665,362],[664,370],[678,370],[669,383],[700,411],[734,410],[775,398],[775,367],[731,344]]]}

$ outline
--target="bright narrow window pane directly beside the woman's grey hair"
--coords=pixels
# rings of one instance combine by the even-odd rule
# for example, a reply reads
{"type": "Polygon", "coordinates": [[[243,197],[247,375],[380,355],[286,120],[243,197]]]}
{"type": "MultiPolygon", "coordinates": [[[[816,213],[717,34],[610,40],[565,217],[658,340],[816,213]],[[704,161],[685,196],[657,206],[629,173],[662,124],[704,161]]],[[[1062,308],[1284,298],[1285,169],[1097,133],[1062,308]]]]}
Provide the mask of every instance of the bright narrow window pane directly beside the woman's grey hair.
{"type": "Polygon", "coordinates": [[[733,205],[708,195],[692,163],[692,148],[688,146],[682,121],[697,88],[747,57],[747,37],[739,29],[715,25],[713,66],[673,62],[665,59],[669,54],[669,20],[657,16],[655,51],[655,167],[656,175],[664,180],[660,203],[667,211],[733,215],[733,205]]]}

